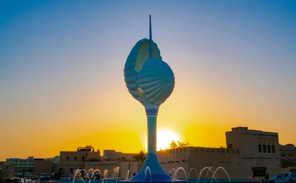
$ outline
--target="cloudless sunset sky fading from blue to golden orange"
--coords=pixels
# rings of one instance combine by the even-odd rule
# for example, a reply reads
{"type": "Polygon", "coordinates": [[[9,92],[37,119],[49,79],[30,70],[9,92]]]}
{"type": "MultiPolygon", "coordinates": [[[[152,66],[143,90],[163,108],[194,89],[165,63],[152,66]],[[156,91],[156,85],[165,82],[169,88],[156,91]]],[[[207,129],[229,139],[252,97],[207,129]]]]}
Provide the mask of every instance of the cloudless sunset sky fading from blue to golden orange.
{"type": "Polygon", "coordinates": [[[0,2],[0,160],[87,143],[146,150],[144,107],[123,67],[148,37],[149,14],[176,76],[159,131],[219,147],[225,131],[248,126],[294,143],[296,1],[8,0],[0,2]]]}

